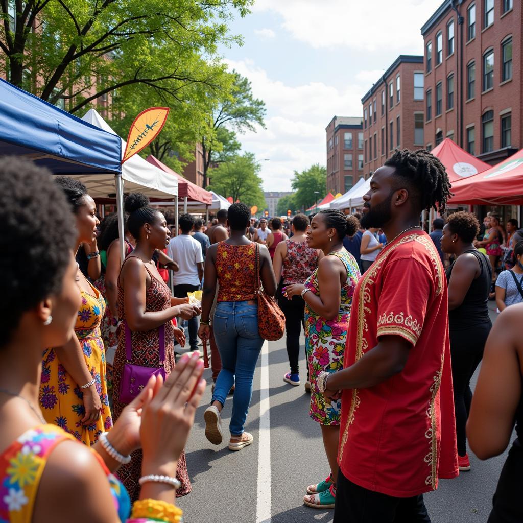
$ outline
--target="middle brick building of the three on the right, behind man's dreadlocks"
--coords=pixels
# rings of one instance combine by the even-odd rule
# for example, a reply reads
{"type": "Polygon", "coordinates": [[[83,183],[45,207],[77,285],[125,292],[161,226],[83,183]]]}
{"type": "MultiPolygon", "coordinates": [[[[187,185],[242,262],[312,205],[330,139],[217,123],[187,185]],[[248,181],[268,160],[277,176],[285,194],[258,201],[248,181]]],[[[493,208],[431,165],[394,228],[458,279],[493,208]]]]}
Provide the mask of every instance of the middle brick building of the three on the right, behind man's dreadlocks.
{"type": "Polygon", "coordinates": [[[402,54],[361,99],[365,178],[396,147],[424,146],[423,86],[423,56],[402,54]]]}

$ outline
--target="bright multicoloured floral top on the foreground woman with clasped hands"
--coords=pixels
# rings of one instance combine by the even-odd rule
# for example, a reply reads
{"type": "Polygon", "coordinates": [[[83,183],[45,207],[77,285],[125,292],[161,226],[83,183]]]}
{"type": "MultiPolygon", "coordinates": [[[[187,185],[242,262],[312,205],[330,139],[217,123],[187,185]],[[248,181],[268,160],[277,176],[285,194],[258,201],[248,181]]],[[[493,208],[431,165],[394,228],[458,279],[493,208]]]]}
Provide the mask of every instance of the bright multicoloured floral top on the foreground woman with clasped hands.
{"type": "MultiPolygon", "coordinates": [[[[52,450],[73,436],[54,425],[39,425],[26,430],[0,454],[0,521],[30,523],[43,469],[52,450]]],[[[120,521],[126,521],[131,502],[123,485],[107,469],[103,459],[92,450],[104,469],[120,521]]],[[[52,519],[52,518],[51,518],[52,519]]]]}

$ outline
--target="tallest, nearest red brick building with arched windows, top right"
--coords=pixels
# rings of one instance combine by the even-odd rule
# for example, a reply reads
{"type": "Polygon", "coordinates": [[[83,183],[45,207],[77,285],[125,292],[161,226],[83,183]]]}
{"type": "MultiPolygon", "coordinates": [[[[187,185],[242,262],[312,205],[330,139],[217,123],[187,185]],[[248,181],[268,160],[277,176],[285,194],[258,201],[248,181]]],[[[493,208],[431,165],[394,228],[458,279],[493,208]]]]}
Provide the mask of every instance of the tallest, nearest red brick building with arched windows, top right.
{"type": "Polygon", "coordinates": [[[520,0],[444,2],[422,27],[425,145],[492,165],[523,147],[520,0]]]}

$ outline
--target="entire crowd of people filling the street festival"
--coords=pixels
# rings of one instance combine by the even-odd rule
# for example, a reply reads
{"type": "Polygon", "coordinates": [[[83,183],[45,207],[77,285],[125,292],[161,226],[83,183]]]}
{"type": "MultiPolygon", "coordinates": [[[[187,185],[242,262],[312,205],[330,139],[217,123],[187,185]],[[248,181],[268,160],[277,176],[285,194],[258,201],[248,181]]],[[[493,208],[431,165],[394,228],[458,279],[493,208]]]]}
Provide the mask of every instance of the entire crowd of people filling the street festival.
{"type": "Polygon", "coordinates": [[[454,212],[427,234],[420,214],[450,196],[435,156],[396,151],[361,215],[258,222],[234,203],[173,231],[131,194],[121,246],[80,181],[4,157],[0,521],[181,521],[200,347],[206,437],[224,445],[232,404],[225,444],[240,451],[261,346],[283,335],[283,380],[310,393],[328,471],[305,505],[335,523],[430,521],[423,494],[470,470],[467,445],[497,456],[515,428],[488,521],[523,521],[523,230],[454,212]]]}

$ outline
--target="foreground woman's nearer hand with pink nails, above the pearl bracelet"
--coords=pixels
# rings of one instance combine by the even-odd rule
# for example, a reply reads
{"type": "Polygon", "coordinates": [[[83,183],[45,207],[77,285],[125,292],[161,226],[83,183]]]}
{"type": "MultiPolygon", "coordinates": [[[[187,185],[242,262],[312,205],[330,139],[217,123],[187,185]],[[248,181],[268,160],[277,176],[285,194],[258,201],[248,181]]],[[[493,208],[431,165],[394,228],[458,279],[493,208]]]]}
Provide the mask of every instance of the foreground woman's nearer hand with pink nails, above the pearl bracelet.
{"type": "Polygon", "coordinates": [[[205,390],[202,373],[199,354],[184,355],[157,394],[153,397],[153,391],[147,393],[140,426],[143,475],[176,475],[178,459],[205,390]]]}

